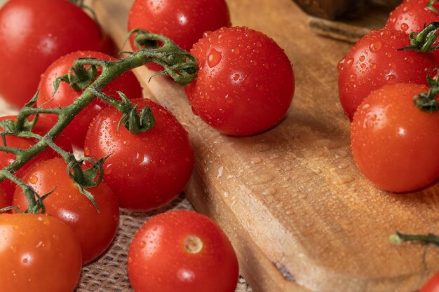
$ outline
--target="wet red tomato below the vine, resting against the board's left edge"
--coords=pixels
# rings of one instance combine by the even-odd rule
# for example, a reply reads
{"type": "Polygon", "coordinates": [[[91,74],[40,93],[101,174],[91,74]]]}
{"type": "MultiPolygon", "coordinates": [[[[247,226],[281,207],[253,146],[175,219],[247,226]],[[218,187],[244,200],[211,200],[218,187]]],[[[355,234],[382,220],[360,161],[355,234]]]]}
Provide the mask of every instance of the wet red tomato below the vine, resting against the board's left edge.
{"type": "Polygon", "coordinates": [[[101,111],[87,132],[84,153],[105,161],[104,181],[117,195],[119,206],[149,210],[173,200],[186,185],[194,165],[189,137],[178,120],[149,99],[133,99],[137,109],[149,106],[156,124],[131,134],[122,114],[113,107],[101,111]]]}

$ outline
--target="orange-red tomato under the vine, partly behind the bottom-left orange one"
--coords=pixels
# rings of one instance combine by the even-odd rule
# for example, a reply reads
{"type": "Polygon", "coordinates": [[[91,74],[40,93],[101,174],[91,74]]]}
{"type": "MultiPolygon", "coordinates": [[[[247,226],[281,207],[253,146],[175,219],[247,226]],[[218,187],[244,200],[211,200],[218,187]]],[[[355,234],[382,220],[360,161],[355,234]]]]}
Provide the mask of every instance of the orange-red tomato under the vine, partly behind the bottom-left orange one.
{"type": "MultiPolygon", "coordinates": [[[[74,230],[81,244],[84,264],[100,256],[112,243],[119,226],[119,206],[107,184],[102,182],[95,188],[87,189],[95,197],[98,212],[67,176],[67,163],[62,158],[35,164],[22,180],[39,195],[54,190],[44,200],[46,214],[60,219],[74,230]]],[[[27,200],[21,188],[15,190],[13,205],[22,211],[27,209],[27,200]]]]}

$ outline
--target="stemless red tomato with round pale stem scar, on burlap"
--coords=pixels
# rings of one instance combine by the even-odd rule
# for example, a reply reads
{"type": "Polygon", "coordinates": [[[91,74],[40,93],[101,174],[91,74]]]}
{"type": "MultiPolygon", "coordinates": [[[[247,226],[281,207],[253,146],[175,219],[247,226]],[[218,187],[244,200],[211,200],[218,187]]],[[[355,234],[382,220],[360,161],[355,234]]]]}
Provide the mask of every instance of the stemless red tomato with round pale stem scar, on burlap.
{"type": "Polygon", "coordinates": [[[193,211],[170,211],[145,222],[128,251],[135,292],[233,292],[238,261],[224,232],[193,211]],[[214,285],[211,285],[215,283],[214,285]]]}

